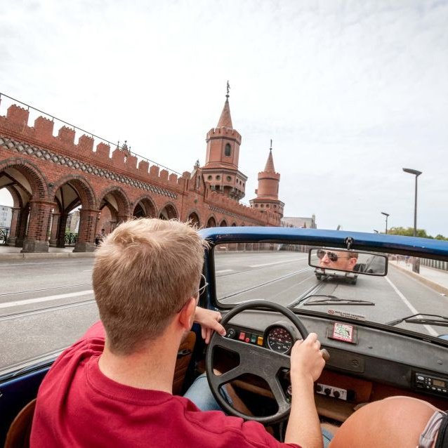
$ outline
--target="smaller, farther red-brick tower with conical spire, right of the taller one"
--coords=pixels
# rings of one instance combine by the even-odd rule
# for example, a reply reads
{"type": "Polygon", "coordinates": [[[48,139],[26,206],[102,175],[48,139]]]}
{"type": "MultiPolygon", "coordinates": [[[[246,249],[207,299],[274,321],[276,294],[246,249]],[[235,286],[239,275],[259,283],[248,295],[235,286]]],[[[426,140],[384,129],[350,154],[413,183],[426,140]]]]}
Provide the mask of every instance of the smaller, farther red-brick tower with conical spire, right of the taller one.
{"type": "Polygon", "coordinates": [[[275,213],[282,218],[284,203],[278,197],[279,182],[280,173],[275,172],[274,159],[272,159],[272,140],[270,140],[268,162],[266,162],[265,170],[258,173],[258,188],[255,190],[257,197],[249,201],[251,206],[264,213],[275,213]]]}

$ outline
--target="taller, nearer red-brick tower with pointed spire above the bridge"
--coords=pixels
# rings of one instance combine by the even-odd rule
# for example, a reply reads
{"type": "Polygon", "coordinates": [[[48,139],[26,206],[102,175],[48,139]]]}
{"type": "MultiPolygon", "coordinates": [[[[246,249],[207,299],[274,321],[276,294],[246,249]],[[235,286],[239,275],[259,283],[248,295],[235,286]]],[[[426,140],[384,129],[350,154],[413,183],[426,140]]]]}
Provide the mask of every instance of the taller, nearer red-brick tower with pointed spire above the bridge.
{"type": "Polygon", "coordinates": [[[202,173],[204,182],[209,184],[211,190],[239,201],[244,197],[247,176],[238,170],[241,136],[232,127],[229,88],[228,83],[218,126],[207,133],[207,154],[202,173]]]}

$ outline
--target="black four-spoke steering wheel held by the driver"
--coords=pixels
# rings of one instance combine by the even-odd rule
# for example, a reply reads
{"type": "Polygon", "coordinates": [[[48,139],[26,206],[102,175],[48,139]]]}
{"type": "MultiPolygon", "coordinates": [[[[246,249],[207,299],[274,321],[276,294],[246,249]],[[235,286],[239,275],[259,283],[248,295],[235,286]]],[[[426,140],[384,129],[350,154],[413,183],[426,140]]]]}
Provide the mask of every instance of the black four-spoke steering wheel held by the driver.
{"type": "MultiPolygon", "coordinates": [[[[294,312],[282,305],[279,305],[278,303],[267,301],[250,301],[237,305],[230,312],[228,312],[225,317],[223,317],[220,323],[225,325],[230,321],[230,319],[232,319],[232,317],[235,317],[240,312],[260,308],[280,312],[284,315],[284,317],[289,319],[292,324],[294,324],[294,327],[298,329],[303,339],[308,336],[307,329],[305,329],[301,320],[294,314],[294,312]]],[[[205,366],[211,393],[213,393],[213,396],[220,407],[222,407],[228,414],[242,417],[242,419],[245,420],[258,421],[263,423],[263,425],[277,423],[289,416],[291,403],[286,401],[282,385],[277,377],[280,369],[291,368],[291,359],[289,355],[277,353],[269,348],[261,347],[260,345],[245,343],[243,341],[226,338],[217,333],[213,333],[206,351],[205,366]],[[230,369],[225,372],[225,374],[216,375],[213,371],[213,349],[216,347],[222,347],[238,353],[239,365],[234,369],[230,369]],[[228,404],[225,398],[220,394],[220,387],[224,386],[226,383],[230,383],[230,381],[243,374],[253,374],[259,376],[268,383],[278,406],[278,411],[275,414],[263,417],[249,416],[243,414],[228,404]]]]}

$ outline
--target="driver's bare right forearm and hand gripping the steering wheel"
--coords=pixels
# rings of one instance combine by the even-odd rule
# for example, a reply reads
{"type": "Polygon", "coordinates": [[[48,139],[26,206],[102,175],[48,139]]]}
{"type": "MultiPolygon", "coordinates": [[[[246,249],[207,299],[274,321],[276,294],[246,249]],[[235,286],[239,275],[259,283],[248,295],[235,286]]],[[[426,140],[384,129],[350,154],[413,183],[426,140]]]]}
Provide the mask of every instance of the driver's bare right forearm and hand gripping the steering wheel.
{"type": "Polygon", "coordinates": [[[305,341],[297,341],[291,352],[292,401],[285,442],[303,448],[323,447],[314,400],[314,382],[325,365],[319,349],[317,334],[310,333],[305,341]]]}

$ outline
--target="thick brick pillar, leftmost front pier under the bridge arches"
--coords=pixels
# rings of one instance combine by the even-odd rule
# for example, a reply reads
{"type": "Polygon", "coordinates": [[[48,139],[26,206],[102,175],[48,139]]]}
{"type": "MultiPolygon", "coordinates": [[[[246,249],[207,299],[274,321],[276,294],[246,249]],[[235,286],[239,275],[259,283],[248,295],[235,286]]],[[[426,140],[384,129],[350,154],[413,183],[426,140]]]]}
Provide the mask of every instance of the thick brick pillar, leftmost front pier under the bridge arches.
{"type": "Polygon", "coordinates": [[[48,230],[55,203],[32,200],[29,204],[28,235],[22,252],[48,252],[48,230]]]}

